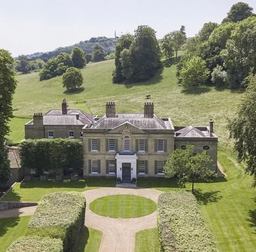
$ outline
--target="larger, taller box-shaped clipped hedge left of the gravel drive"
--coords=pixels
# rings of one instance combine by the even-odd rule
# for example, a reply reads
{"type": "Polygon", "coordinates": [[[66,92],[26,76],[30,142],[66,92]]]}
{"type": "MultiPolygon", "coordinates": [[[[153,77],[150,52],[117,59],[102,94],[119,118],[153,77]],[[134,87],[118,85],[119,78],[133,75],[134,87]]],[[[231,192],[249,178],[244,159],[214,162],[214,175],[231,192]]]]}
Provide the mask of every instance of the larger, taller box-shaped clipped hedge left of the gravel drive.
{"type": "Polygon", "coordinates": [[[78,192],[46,194],[29,221],[26,235],[63,241],[63,250],[72,251],[84,227],[85,196],[78,192]]]}

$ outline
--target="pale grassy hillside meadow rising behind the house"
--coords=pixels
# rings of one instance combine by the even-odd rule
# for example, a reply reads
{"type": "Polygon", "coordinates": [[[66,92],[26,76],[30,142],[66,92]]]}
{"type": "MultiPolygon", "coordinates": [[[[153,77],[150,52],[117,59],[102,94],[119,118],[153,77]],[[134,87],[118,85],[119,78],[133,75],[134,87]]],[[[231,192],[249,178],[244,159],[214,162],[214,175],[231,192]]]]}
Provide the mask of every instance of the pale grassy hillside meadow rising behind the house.
{"type": "MultiPolygon", "coordinates": [[[[104,114],[106,101],[116,102],[119,112],[142,112],[144,102],[149,101],[145,100],[145,95],[151,94],[157,115],[171,117],[177,125],[208,125],[212,118],[221,144],[230,142],[226,118],[234,114],[240,91],[219,91],[205,86],[193,94],[181,93],[174,64],[164,68],[163,73],[150,81],[127,85],[112,83],[113,69],[113,60],[88,64],[82,69],[83,89],[76,93],[65,92],[61,76],[39,81],[38,73],[19,75],[14,96],[14,115],[32,118],[33,113],[60,108],[63,97],[68,100],[69,108],[91,111],[94,115],[104,114]]],[[[16,125],[22,125],[24,121],[15,118],[11,122],[10,137],[16,142],[24,137],[21,129],[15,129],[16,125]]]]}

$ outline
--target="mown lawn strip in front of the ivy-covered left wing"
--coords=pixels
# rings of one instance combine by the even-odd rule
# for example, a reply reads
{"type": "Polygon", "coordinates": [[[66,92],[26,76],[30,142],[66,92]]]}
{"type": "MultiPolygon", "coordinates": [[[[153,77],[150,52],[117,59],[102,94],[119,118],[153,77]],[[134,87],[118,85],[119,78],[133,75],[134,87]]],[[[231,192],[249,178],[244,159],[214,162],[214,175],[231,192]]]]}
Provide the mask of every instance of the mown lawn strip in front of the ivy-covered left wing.
{"type": "Polygon", "coordinates": [[[113,187],[116,185],[114,179],[87,179],[77,182],[64,180],[58,181],[23,181],[17,183],[12,190],[5,195],[2,201],[33,201],[38,202],[43,195],[59,191],[77,191],[96,189],[100,187],[113,187]]]}

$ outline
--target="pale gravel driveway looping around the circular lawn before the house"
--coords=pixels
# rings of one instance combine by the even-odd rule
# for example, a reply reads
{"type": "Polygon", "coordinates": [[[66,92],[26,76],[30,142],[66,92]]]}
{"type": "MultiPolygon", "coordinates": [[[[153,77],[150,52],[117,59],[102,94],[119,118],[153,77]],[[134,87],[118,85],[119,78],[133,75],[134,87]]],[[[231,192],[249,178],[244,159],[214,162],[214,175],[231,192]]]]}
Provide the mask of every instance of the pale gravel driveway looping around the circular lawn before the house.
{"type": "Polygon", "coordinates": [[[135,234],[140,230],[157,226],[156,212],[139,218],[110,218],[93,213],[89,209],[91,201],[114,194],[131,194],[146,197],[157,202],[162,192],[154,189],[139,188],[100,188],[84,192],[86,196],[85,226],[103,232],[99,252],[133,252],[135,248],[135,234]]]}

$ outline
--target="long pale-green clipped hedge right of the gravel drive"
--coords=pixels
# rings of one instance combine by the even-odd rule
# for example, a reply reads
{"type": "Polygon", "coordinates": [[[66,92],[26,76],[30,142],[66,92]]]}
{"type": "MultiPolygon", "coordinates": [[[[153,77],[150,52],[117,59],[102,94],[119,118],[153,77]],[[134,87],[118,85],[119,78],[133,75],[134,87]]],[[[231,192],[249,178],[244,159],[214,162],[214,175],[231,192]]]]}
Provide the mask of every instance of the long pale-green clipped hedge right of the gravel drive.
{"type": "Polygon", "coordinates": [[[161,251],[217,251],[190,192],[172,191],[159,196],[157,226],[161,251]]]}

